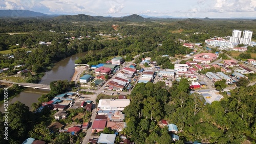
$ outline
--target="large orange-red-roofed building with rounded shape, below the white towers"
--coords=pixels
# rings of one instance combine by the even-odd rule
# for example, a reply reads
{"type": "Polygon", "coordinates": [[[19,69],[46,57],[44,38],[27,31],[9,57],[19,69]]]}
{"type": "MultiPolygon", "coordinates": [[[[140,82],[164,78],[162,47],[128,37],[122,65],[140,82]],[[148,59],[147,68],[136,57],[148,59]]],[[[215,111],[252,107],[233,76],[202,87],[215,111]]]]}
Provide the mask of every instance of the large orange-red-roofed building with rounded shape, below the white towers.
{"type": "Polygon", "coordinates": [[[217,58],[218,58],[218,56],[215,54],[202,53],[202,54],[195,55],[193,58],[193,61],[208,64],[208,63],[211,63],[212,61],[216,60],[217,58]]]}

